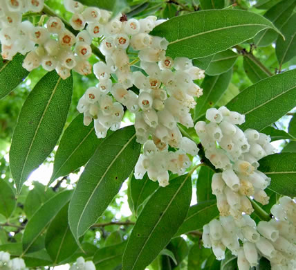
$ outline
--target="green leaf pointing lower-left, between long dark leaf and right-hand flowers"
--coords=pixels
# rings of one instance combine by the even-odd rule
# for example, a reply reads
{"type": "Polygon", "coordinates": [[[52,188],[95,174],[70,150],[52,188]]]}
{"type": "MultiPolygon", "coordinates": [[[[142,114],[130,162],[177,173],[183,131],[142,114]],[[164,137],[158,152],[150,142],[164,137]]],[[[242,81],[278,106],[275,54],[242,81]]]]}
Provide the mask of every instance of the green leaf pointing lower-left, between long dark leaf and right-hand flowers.
{"type": "Polygon", "coordinates": [[[200,230],[203,228],[203,225],[209,223],[217,216],[219,216],[219,210],[216,206],[216,200],[202,201],[199,204],[190,206],[187,217],[178,229],[176,235],[200,230]]]}

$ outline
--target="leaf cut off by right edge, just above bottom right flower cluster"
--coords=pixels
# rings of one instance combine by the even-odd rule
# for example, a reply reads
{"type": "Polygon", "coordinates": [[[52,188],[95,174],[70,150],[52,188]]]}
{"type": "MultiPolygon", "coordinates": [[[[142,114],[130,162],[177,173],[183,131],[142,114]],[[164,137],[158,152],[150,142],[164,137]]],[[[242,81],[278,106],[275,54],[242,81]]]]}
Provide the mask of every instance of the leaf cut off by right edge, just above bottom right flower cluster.
{"type": "Polygon", "coordinates": [[[271,178],[268,188],[281,195],[296,196],[296,153],[266,156],[260,161],[259,170],[271,178]]]}

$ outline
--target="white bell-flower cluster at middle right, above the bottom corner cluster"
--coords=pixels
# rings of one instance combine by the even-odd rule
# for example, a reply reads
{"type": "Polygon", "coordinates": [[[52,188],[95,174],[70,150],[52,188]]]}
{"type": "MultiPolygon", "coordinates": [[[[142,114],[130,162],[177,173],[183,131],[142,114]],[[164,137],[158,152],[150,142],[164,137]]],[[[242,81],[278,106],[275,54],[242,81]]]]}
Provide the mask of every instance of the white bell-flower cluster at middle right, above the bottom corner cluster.
{"type": "Polygon", "coordinates": [[[195,125],[196,133],[205,148],[205,156],[217,169],[223,170],[212,177],[212,192],[216,195],[220,215],[240,219],[244,212],[253,211],[250,200],[254,197],[261,204],[268,204],[264,189],[270,178],[257,170],[258,160],[272,154],[275,148],[270,137],[254,129],[243,132],[237,125],[245,116],[226,107],[208,109],[203,121],[195,125]]]}

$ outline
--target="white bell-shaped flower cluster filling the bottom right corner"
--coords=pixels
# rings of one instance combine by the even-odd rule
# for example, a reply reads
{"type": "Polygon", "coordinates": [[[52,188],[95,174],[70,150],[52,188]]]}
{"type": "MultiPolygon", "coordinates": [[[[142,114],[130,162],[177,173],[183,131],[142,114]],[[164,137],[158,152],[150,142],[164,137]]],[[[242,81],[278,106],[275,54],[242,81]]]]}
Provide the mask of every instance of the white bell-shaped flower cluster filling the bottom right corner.
{"type": "Polygon", "coordinates": [[[225,258],[228,248],[237,255],[239,270],[256,267],[261,256],[270,260],[272,270],[296,269],[296,203],[281,197],[271,213],[274,218],[258,225],[249,215],[213,219],[203,226],[203,245],[212,247],[217,260],[225,258]]]}

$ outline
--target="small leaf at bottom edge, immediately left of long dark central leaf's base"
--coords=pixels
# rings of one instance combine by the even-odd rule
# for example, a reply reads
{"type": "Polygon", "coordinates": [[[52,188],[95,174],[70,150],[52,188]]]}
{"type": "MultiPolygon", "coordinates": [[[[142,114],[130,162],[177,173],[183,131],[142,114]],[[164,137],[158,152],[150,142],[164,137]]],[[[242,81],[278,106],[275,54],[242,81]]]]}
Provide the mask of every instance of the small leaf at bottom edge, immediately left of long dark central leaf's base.
{"type": "Polygon", "coordinates": [[[113,270],[120,265],[125,246],[127,246],[127,241],[98,249],[93,256],[93,263],[96,269],[113,270]]]}

